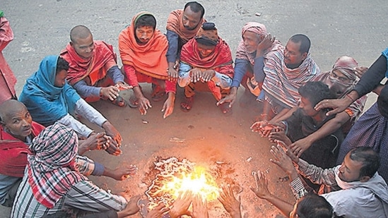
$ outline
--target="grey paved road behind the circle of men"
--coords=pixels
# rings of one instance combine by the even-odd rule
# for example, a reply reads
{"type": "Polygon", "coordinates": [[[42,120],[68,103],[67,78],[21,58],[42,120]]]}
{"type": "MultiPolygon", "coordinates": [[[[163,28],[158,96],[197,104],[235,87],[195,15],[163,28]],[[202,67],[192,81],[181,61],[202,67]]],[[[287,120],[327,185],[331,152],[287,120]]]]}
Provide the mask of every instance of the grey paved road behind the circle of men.
{"type": "MultiPolygon", "coordinates": [[[[182,8],[184,3],[182,0],[2,0],[0,9],[15,33],[15,40],[4,49],[4,55],[18,78],[17,92],[20,93],[25,79],[37,70],[44,56],[59,54],[66,46],[74,25],[88,26],[95,40],[113,44],[118,53],[119,32],[134,14],[151,11],[158,20],[158,28],[165,32],[168,13],[182,8]]],[[[336,58],[344,54],[369,66],[388,46],[386,0],[206,0],[201,3],[206,8],[206,19],[216,23],[219,35],[230,44],[233,54],[242,25],[247,21],[264,23],[284,44],[296,33],[308,35],[312,41],[312,57],[323,71],[329,70],[336,58]]],[[[0,207],[0,217],[8,217],[4,207],[0,207]]]]}

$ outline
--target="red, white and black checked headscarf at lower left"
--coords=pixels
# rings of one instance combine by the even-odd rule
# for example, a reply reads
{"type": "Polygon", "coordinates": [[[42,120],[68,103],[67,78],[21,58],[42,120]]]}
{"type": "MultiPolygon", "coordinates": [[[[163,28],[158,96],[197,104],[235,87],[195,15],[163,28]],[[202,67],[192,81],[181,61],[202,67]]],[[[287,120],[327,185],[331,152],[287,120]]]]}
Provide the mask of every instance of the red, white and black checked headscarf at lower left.
{"type": "Polygon", "coordinates": [[[78,137],[71,128],[60,123],[45,128],[29,150],[28,183],[36,200],[45,207],[54,207],[74,184],[87,179],[75,168],[78,137]]]}

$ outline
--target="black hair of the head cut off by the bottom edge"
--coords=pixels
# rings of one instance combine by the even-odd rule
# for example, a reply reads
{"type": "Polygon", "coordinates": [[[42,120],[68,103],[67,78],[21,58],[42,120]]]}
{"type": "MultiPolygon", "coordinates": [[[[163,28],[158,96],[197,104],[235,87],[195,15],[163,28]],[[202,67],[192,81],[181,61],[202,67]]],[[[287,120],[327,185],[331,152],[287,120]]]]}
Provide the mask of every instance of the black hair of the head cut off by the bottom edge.
{"type": "Polygon", "coordinates": [[[333,207],[327,200],[315,193],[307,193],[296,205],[296,214],[300,218],[331,218],[333,207]]]}

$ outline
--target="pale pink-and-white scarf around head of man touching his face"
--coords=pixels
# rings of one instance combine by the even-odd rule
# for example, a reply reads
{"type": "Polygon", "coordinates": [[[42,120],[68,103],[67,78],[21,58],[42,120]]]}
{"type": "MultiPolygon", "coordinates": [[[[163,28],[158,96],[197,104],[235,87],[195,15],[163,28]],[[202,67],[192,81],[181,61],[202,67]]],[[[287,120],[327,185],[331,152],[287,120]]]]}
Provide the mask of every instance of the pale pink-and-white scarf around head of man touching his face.
{"type": "MultiPolygon", "coordinates": [[[[266,26],[261,23],[257,22],[248,22],[242,27],[241,31],[241,37],[245,34],[245,32],[254,32],[258,35],[267,35],[266,32],[266,26]]],[[[269,48],[265,54],[264,58],[266,59],[268,56],[273,54],[276,51],[281,51],[283,50],[283,46],[281,45],[281,42],[278,40],[275,40],[274,44],[272,45],[271,48],[269,48]]],[[[237,51],[236,51],[236,59],[243,59],[249,61],[252,66],[254,65],[254,58],[256,57],[255,52],[249,53],[247,52],[247,48],[245,47],[244,40],[241,40],[240,43],[238,44],[237,51]]]]}

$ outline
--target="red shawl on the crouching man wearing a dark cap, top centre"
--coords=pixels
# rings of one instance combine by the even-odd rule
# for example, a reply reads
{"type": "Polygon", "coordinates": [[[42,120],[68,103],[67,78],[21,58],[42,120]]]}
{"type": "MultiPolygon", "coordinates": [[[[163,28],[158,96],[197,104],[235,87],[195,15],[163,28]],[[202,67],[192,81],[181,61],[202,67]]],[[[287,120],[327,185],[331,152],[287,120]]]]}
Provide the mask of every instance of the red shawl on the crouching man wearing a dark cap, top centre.
{"type": "Polygon", "coordinates": [[[221,38],[218,40],[218,44],[216,45],[213,53],[204,58],[202,58],[198,52],[198,43],[196,40],[189,40],[189,42],[184,44],[182,47],[180,60],[195,68],[211,68],[215,71],[217,71],[216,68],[230,66],[226,71],[219,73],[223,73],[228,75],[230,78],[233,78],[234,71],[232,66],[232,54],[228,44],[226,44],[226,42],[221,38]]]}

